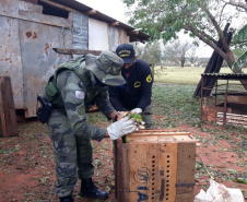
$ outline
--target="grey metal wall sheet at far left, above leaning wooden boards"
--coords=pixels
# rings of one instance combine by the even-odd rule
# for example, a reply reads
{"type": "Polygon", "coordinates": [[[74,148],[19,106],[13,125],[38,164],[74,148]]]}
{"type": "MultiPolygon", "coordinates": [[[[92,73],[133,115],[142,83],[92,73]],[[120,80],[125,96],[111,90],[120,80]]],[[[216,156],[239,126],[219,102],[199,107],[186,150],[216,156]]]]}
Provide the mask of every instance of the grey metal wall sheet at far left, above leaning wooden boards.
{"type": "Polygon", "coordinates": [[[10,76],[14,106],[24,108],[19,21],[0,16],[0,76],[10,76]]]}

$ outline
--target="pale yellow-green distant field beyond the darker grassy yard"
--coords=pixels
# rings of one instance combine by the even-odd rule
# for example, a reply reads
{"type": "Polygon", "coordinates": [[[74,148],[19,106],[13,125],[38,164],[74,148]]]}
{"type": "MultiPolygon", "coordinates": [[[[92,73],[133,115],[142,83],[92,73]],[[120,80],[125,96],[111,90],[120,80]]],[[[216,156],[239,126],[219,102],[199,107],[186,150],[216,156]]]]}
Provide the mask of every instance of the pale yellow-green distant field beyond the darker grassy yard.
{"type": "MultiPolygon", "coordinates": [[[[162,83],[173,84],[198,84],[201,79],[201,73],[204,72],[204,68],[191,68],[191,67],[160,67],[154,68],[154,81],[162,83]]],[[[247,73],[247,70],[244,70],[247,73]]],[[[222,68],[221,73],[232,73],[230,68],[222,68]]]]}

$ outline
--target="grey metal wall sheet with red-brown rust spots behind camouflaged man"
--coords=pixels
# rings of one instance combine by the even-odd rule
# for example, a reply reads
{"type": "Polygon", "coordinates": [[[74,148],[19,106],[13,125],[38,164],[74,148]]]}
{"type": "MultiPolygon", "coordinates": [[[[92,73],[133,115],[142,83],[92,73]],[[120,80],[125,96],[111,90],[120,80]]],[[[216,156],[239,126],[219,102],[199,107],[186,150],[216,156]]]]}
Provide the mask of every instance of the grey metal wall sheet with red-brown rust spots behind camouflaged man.
{"type": "MultiPolygon", "coordinates": [[[[52,17],[52,16],[50,16],[52,17]]],[[[20,21],[20,40],[23,63],[25,117],[36,116],[37,93],[44,87],[58,64],[71,56],[58,55],[54,47],[72,47],[69,29],[35,22],[20,21]]]]}

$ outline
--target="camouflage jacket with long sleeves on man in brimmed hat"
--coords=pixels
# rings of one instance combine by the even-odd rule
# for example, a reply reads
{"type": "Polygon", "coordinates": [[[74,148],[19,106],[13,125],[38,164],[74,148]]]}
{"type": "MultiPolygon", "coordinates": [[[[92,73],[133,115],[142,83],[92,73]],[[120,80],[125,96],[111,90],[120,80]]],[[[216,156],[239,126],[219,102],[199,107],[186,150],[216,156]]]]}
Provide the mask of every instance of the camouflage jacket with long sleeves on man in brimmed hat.
{"type": "Polygon", "coordinates": [[[60,98],[55,102],[59,105],[63,104],[75,135],[86,134],[90,139],[101,141],[106,134],[106,129],[90,124],[85,112],[94,104],[106,117],[109,117],[115,109],[109,103],[107,87],[99,85],[94,74],[85,70],[84,66],[85,63],[82,62],[80,67],[81,79],[70,70],[64,70],[57,75],[60,98]]]}

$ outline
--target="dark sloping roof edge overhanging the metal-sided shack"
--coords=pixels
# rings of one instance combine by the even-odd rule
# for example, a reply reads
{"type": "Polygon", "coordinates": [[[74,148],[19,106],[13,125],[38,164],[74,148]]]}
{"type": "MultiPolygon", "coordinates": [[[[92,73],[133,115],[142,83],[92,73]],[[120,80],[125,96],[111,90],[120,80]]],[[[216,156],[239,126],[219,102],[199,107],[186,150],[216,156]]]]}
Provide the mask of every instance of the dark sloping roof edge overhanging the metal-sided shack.
{"type": "MultiPolygon", "coordinates": [[[[85,5],[81,2],[78,2],[75,0],[48,0],[48,1],[69,7],[73,10],[77,10],[77,11],[84,13],[84,14],[89,11],[94,10],[93,8],[87,7],[87,5],[85,5]]],[[[107,23],[119,22],[116,19],[113,19],[113,17],[110,17],[110,16],[104,14],[104,13],[98,12],[98,11],[95,14],[91,14],[90,16],[93,17],[93,19],[96,19],[98,21],[103,21],[103,22],[107,22],[107,23]]],[[[121,23],[121,22],[119,22],[118,26],[122,27],[127,32],[136,31],[134,27],[129,26],[129,25],[121,23]]],[[[130,41],[138,41],[138,40],[145,41],[145,40],[149,40],[150,35],[139,31],[138,34],[129,35],[129,37],[130,37],[130,41]]]]}

